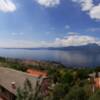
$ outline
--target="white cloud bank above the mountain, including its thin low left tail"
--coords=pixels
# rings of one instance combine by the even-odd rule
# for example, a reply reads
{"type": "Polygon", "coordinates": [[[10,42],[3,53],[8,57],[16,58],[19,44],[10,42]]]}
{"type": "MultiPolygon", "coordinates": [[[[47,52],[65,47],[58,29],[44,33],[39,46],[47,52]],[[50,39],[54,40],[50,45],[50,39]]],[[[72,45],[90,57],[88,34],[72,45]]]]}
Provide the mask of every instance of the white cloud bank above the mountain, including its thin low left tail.
{"type": "MultiPolygon", "coordinates": [[[[73,32],[74,33],[74,32],[73,32]]],[[[75,33],[76,34],[76,33],[75,33]]],[[[100,45],[100,39],[87,35],[67,35],[63,38],[56,38],[53,42],[44,41],[44,47],[66,47],[66,46],[80,46],[89,43],[96,43],[100,45]]]]}

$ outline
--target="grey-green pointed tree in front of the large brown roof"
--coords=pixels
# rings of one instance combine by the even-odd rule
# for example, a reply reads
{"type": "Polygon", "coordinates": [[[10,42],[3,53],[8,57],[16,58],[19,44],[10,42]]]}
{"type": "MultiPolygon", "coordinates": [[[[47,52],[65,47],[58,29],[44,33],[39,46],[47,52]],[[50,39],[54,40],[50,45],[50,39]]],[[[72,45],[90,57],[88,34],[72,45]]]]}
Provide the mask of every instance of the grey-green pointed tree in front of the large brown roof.
{"type": "Polygon", "coordinates": [[[42,100],[38,95],[40,86],[37,85],[35,91],[32,88],[31,82],[27,79],[23,88],[18,88],[16,100],[42,100]]]}

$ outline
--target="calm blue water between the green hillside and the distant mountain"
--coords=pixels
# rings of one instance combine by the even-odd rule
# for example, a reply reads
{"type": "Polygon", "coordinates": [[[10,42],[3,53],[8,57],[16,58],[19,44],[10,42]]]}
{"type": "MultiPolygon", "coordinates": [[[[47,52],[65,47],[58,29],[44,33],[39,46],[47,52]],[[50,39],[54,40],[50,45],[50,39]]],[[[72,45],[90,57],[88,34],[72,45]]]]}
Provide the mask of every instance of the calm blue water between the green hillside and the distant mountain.
{"type": "Polygon", "coordinates": [[[20,59],[57,61],[66,66],[92,67],[100,65],[100,54],[57,50],[0,49],[0,56],[20,59]]]}

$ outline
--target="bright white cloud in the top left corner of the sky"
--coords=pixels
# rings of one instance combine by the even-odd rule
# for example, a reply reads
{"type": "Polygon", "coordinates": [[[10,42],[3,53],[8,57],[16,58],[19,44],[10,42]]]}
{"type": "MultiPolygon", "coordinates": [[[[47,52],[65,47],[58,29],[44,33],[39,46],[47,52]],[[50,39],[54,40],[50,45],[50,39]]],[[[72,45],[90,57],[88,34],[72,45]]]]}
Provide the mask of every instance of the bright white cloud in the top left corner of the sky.
{"type": "Polygon", "coordinates": [[[12,0],[0,0],[0,11],[2,12],[14,12],[16,11],[16,5],[12,0]]]}

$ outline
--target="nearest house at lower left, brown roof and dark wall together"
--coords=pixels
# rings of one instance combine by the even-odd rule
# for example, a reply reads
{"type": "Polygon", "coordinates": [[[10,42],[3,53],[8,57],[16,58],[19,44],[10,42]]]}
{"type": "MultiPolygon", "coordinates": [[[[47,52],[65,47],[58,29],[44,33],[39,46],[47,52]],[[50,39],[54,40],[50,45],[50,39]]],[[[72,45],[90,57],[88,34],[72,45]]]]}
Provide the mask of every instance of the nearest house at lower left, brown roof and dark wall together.
{"type": "Polygon", "coordinates": [[[0,96],[3,97],[4,100],[15,100],[17,89],[19,87],[23,88],[26,79],[31,82],[35,91],[37,81],[39,81],[40,84],[43,84],[47,78],[38,78],[29,73],[0,67],[0,96]]]}

